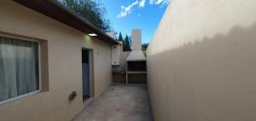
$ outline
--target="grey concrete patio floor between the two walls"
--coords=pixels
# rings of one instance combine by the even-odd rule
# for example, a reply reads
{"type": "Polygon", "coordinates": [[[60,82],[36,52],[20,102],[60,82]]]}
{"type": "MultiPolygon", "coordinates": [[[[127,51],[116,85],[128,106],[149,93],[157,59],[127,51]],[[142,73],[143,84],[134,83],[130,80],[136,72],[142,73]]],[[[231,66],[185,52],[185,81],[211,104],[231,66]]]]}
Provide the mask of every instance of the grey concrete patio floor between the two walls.
{"type": "Polygon", "coordinates": [[[112,85],[73,121],[153,121],[146,85],[112,85]]]}

